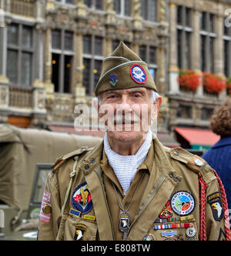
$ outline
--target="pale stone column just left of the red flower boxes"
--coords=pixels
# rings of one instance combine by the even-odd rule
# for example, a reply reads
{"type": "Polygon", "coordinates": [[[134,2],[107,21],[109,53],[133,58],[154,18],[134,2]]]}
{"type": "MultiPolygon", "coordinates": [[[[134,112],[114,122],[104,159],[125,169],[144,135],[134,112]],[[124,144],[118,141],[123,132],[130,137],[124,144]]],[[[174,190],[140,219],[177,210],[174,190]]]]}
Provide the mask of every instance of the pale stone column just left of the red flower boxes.
{"type": "Polygon", "coordinates": [[[179,94],[179,69],[177,66],[176,5],[169,4],[169,93],[179,94]]]}

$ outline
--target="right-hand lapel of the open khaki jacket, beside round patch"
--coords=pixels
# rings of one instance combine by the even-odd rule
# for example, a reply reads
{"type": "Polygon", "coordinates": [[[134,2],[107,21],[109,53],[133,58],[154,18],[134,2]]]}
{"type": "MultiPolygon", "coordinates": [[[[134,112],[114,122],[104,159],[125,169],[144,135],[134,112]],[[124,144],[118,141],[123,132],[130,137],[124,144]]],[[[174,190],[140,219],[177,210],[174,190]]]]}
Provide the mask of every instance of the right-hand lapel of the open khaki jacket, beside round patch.
{"type": "Polygon", "coordinates": [[[179,184],[181,177],[177,176],[167,159],[166,152],[163,150],[159,140],[154,140],[155,159],[152,166],[152,172],[149,177],[149,183],[144,191],[145,197],[139,207],[135,220],[129,232],[128,240],[142,240],[149,228],[162,211],[163,207],[171,197],[175,187],[179,184]],[[156,173],[157,172],[157,176],[156,173]],[[178,177],[177,181],[172,180],[169,173],[174,173],[178,177]],[[155,174],[155,175],[154,175],[155,174]]]}

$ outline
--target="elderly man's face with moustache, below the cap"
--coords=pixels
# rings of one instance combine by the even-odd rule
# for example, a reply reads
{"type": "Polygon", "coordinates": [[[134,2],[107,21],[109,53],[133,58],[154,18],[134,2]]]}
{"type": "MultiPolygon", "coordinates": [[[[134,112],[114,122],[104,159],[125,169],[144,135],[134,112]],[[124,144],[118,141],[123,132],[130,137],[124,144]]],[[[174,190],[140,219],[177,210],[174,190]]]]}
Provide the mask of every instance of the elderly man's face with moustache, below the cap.
{"type": "Polygon", "coordinates": [[[143,87],[108,91],[100,99],[99,123],[105,123],[108,136],[120,142],[142,140],[159,111],[159,100],[152,103],[151,90],[143,87]]]}

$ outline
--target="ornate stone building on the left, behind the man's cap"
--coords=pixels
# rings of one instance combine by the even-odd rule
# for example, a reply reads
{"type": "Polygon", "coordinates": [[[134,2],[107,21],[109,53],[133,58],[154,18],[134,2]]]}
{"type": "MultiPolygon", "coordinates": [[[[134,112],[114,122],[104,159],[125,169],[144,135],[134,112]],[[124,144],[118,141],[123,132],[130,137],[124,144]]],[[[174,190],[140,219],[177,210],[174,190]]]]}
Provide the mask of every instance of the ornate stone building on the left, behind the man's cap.
{"type": "Polygon", "coordinates": [[[91,103],[102,59],[121,40],[165,93],[165,1],[0,0],[0,8],[2,122],[73,124],[75,105],[91,103]]]}

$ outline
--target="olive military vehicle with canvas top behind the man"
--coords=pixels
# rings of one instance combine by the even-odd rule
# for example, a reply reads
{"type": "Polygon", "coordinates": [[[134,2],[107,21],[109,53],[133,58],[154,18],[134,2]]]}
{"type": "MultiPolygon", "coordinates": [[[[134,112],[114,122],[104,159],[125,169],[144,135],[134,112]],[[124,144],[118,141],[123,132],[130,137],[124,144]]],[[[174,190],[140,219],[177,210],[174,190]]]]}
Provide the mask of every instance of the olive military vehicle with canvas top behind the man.
{"type": "Polygon", "coordinates": [[[36,239],[42,194],[52,163],[101,140],[0,124],[0,240],[36,239]]]}

